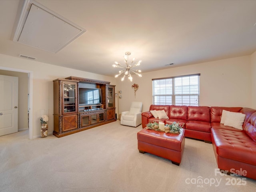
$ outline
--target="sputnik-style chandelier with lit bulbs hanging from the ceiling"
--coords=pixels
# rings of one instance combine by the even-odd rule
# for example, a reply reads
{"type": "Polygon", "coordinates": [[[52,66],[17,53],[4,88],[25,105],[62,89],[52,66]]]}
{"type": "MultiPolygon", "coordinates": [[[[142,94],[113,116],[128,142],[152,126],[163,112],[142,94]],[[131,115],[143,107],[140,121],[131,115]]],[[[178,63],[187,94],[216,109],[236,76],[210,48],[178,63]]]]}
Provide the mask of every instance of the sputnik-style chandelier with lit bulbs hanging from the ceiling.
{"type": "Polygon", "coordinates": [[[115,78],[119,77],[121,74],[124,73],[124,76],[122,77],[121,81],[124,80],[125,76],[127,75],[128,76],[128,79],[130,81],[132,81],[132,75],[131,75],[131,72],[135,73],[136,75],[138,75],[139,77],[142,77],[141,74],[141,70],[132,70],[133,67],[135,66],[139,66],[140,65],[140,61],[136,62],[136,64],[132,65],[132,63],[134,62],[135,58],[132,59],[132,62],[131,64],[128,64],[128,58],[129,58],[129,55],[131,54],[131,52],[125,52],[125,56],[124,56],[124,62],[126,64],[126,66],[123,66],[121,65],[120,63],[116,62],[115,61],[115,64],[113,64],[112,66],[113,67],[119,67],[119,68],[123,68],[123,70],[120,70],[119,73],[117,75],[115,75],[115,78]]]}

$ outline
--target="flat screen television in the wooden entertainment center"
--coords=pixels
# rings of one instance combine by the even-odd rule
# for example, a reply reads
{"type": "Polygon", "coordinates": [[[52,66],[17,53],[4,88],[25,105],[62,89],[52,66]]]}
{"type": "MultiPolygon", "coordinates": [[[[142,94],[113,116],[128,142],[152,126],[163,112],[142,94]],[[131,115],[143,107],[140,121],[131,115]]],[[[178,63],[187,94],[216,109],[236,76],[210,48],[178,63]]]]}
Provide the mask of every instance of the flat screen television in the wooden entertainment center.
{"type": "Polygon", "coordinates": [[[79,88],[79,105],[101,104],[101,89],[79,88]]]}

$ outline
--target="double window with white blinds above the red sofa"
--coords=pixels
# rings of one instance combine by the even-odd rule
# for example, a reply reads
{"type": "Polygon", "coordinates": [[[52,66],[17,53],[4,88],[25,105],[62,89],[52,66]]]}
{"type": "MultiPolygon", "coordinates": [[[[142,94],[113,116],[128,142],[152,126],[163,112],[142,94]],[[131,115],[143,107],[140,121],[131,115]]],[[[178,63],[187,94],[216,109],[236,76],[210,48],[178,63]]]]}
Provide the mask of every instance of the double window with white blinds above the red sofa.
{"type": "Polygon", "coordinates": [[[154,105],[199,105],[200,74],[152,79],[154,105]]]}

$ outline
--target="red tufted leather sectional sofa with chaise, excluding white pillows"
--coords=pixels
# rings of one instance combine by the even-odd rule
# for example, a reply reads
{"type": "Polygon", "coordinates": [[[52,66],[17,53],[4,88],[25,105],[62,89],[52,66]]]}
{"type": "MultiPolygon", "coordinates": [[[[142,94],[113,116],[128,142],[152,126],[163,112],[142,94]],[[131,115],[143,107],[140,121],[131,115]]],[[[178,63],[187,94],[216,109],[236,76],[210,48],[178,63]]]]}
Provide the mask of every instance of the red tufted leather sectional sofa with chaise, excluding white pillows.
{"type": "Polygon", "coordinates": [[[151,105],[143,112],[148,122],[184,123],[185,136],[212,142],[218,168],[256,180],[256,110],[242,107],[151,105]],[[164,110],[169,119],[154,118],[150,110],[164,110]],[[242,130],[220,123],[222,110],[245,114],[242,130]]]}

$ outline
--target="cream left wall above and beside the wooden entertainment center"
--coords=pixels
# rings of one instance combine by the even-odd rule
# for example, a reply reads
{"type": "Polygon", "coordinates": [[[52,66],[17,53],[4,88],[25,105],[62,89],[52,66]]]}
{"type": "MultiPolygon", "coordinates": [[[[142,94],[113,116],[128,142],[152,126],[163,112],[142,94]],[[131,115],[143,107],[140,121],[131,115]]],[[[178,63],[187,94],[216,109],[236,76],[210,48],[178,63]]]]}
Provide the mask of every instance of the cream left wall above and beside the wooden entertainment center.
{"type": "Polygon", "coordinates": [[[48,113],[48,132],[53,131],[53,82],[56,78],[77,76],[82,78],[109,81],[116,84],[114,77],[54,66],[28,59],[0,54],[0,67],[32,71],[33,75],[33,138],[40,135],[40,116],[48,113]]]}

